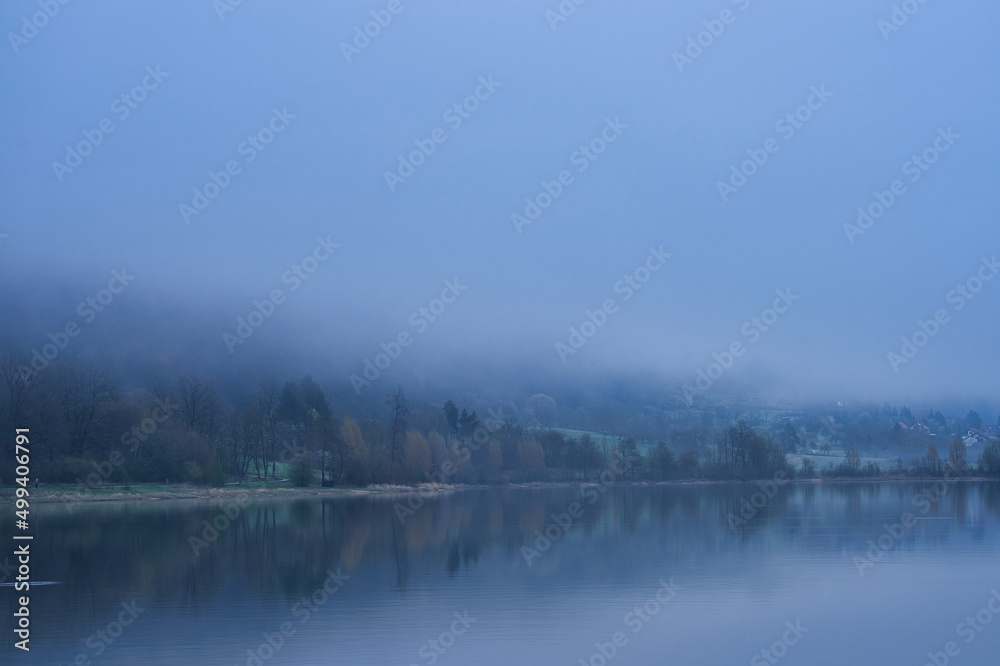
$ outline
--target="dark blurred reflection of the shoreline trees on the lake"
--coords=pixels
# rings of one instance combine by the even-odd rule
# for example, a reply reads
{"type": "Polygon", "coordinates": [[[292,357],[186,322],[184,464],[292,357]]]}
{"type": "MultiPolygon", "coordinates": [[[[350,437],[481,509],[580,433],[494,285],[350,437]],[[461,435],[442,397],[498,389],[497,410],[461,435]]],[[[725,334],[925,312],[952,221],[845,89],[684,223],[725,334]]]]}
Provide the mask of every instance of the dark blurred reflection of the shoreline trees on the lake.
{"type": "MultiPolygon", "coordinates": [[[[756,484],[617,486],[593,503],[579,487],[467,490],[424,500],[405,522],[393,509],[401,496],[272,501],[242,509],[197,557],[189,539],[224,515],[221,505],[94,506],[41,516],[48,537],[32,565],[66,583],[61,602],[82,630],[126,596],[193,607],[215,603],[223,590],[297,601],[338,566],[376,581],[366,585],[407,590],[418,578],[474,575],[484,558],[540,577],[613,570],[623,561],[725,566],[778,548],[838,553],[864,547],[903,512],[920,515],[913,500],[927,487],[789,484],[737,531],[728,513],[759,491],[756,484]],[[544,566],[528,567],[521,548],[534,546],[553,514],[574,502],[582,513],[569,534],[560,528],[540,555],[544,566]]],[[[1000,520],[1000,484],[951,484],[945,501],[941,514],[956,520],[921,523],[914,534],[941,543],[984,539],[1000,520]]]]}

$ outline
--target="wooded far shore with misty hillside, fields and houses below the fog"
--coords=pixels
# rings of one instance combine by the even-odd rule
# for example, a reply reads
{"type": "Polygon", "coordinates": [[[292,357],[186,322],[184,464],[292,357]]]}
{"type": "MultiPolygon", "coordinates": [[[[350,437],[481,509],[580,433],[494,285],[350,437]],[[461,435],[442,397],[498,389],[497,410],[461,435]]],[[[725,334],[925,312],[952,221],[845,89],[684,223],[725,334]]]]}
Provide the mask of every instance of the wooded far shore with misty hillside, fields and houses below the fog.
{"type": "Polygon", "coordinates": [[[23,363],[0,357],[3,426],[42,433],[38,476],[80,489],[167,480],[586,481],[607,469],[625,481],[757,479],[779,471],[1000,475],[997,431],[975,410],[949,418],[931,409],[923,419],[889,405],[785,414],[731,404],[684,410],[678,395],[653,421],[630,415],[648,414],[647,406],[623,409],[620,423],[602,416],[606,403],[589,412],[579,404],[561,409],[552,396],[535,393],[521,409],[510,403],[484,418],[471,402],[415,401],[399,386],[381,404],[342,414],[311,376],[263,381],[234,400],[199,376],[126,391],[95,365],[58,360],[25,373],[23,363]],[[607,427],[614,422],[620,425],[607,427]]]}

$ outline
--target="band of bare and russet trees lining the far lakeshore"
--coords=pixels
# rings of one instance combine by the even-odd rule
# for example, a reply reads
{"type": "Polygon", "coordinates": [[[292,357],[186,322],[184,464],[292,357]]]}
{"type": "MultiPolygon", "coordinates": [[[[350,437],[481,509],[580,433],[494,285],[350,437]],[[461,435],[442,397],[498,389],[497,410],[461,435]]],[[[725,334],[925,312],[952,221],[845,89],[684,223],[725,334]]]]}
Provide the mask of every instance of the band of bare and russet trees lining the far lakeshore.
{"type": "MultiPolygon", "coordinates": [[[[956,438],[942,460],[933,444],[920,460],[891,469],[862,464],[857,446],[844,460],[817,470],[809,457],[794,468],[801,448],[791,424],[770,435],[739,420],[707,445],[634,437],[571,436],[553,427],[554,402],[532,396],[538,419],[510,413],[483,419],[453,400],[414,405],[397,387],[367,413],[337,416],[310,376],[264,381],[232,404],[201,377],[169,385],[123,389],[107,371],[59,361],[44,372],[0,356],[0,425],[40,435],[33,470],[46,483],[84,488],[106,484],[185,482],[222,485],[291,479],[298,485],[509,483],[594,479],[613,470],[623,480],[757,479],[789,476],[876,477],[985,474],[1000,476],[1000,443],[985,447],[978,464],[966,461],[956,438]],[[551,404],[550,404],[551,403],[551,404]]],[[[5,446],[13,455],[13,438],[5,446]]],[[[0,469],[10,483],[13,466],[0,469]]]]}

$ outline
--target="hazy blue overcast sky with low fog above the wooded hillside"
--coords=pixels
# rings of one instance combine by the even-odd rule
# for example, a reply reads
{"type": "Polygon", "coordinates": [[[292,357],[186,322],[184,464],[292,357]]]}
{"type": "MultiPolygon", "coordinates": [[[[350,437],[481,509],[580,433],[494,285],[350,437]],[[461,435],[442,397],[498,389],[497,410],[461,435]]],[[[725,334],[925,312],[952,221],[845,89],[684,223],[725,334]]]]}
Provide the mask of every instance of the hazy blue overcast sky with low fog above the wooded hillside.
{"type": "Polygon", "coordinates": [[[540,388],[740,343],[722,381],[993,397],[1000,8],[902,4],[7,0],[0,338],[349,386],[403,334],[394,381],[540,388]]]}

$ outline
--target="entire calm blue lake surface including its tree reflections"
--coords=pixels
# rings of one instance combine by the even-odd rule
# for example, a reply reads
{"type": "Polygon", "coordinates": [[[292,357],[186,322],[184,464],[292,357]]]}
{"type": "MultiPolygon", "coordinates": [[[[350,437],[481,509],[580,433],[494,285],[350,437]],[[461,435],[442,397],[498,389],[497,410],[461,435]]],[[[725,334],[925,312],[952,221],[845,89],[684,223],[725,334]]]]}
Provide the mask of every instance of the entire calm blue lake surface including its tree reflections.
{"type": "Polygon", "coordinates": [[[30,654],[0,588],[0,661],[998,663],[1000,484],[767,490],[35,505],[59,584],[31,589],[30,654]]]}

